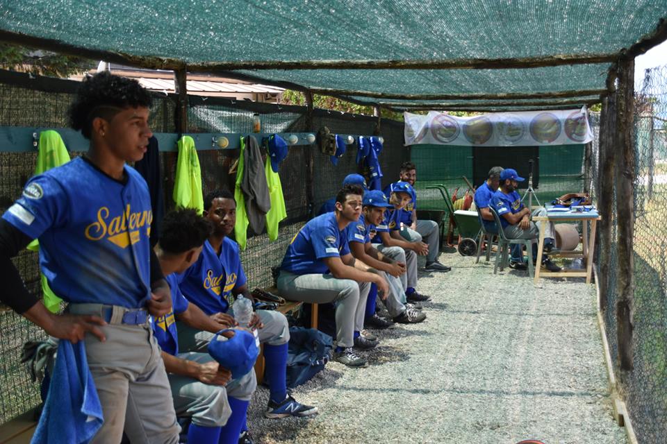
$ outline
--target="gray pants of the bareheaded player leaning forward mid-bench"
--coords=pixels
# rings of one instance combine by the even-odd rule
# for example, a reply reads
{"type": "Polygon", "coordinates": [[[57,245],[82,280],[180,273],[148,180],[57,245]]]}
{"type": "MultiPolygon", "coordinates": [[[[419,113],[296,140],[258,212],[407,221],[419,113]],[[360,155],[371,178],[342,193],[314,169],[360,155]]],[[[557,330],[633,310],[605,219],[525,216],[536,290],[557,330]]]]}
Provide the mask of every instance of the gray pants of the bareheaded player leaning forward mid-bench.
{"type": "Polygon", "coordinates": [[[336,279],[332,275],[295,275],[281,271],[278,291],[283,298],[324,304],[336,302],[336,341],[339,347],[354,346],[354,330],[363,330],[369,282],[336,279]]]}

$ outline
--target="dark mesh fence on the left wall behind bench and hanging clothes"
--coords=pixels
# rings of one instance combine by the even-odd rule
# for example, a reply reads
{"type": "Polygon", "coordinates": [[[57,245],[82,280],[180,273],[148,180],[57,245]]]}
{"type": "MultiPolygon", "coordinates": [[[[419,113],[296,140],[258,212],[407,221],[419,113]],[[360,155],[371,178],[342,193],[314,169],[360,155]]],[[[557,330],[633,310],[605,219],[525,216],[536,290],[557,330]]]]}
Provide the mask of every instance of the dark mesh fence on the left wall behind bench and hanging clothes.
{"type": "MultiPolygon", "coordinates": [[[[6,77],[3,77],[6,80],[6,77]]],[[[0,80],[2,81],[2,80],[0,80]]],[[[65,113],[73,99],[76,83],[63,80],[31,80],[30,85],[0,83],[0,126],[66,127],[65,113]]],[[[174,132],[175,96],[156,94],[151,108],[150,124],[155,132],[174,132]]],[[[189,97],[188,132],[191,133],[250,133],[252,114],[261,114],[265,132],[306,131],[306,108],[231,101],[218,98],[189,97]]],[[[372,135],[377,118],[314,110],[311,130],[327,126],[333,133],[372,135]]],[[[403,146],[403,123],[382,121],[380,135],[384,150],[379,156],[386,183],[396,180],[400,164],[409,158],[403,146]]],[[[0,146],[0,214],[21,194],[33,174],[37,153],[10,153],[10,147],[0,146]]],[[[72,153],[79,155],[80,153],[72,153]]],[[[229,174],[233,152],[222,150],[199,151],[204,193],[215,188],[233,186],[229,174]]],[[[172,207],[172,190],[176,169],[176,152],[163,152],[162,160],[165,202],[172,207]]],[[[324,200],[336,194],[343,178],[358,172],[355,164],[356,145],[347,146],[338,166],[323,155],[316,146],[292,146],[281,163],[280,176],[286,201],[288,219],[280,226],[277,241],[270,242],[266,234],[249,237],[242,252],[242,262],[249,285],[265,287],[272,284],[271,267],[279,265],[287,244],[311,213],[324,200]],[[307,162],[312,156],[314,183],[308,190],[307,162]],[[308,195],[313,196],[311,202],[308,195]]],[[[23,251],[14,259],[30,291],[41,295],[38,255],[23,251]]],[[[35,325],[0,307],[0,425],[36,407],[40,402],[38,384],[28,379],[20,364],[22,345],[26,341],[44,338],[35,325]]]]}

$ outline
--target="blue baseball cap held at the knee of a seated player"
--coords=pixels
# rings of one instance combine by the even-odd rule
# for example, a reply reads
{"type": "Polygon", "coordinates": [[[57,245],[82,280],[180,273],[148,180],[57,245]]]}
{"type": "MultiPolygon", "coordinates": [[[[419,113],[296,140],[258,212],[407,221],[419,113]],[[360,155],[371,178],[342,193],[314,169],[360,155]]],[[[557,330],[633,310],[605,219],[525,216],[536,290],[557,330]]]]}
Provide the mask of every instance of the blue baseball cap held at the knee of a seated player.
{"type": "Polygon", "coordinates": [[[255,336],[247,330],[222,330],[208,343],[208,354],[220,366],[231,371],[233,379],[246,375],[255,365],[259,350],[255,344],[255,336]],[[220,333],[234,332],[234,336],[227,339],[220,333]]]}

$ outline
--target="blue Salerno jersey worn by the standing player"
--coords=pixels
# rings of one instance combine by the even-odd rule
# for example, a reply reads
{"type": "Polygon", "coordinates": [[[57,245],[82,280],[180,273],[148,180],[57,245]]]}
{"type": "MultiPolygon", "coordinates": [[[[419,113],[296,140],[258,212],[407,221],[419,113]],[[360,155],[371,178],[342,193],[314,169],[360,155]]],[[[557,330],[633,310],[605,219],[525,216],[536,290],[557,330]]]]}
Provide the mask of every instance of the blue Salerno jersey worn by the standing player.
{"type": "Polygon", "coordinates": [[[67,302],[143,307],[150,297],[151,198],[126,166],[126,182],[77,157],[28,180],[3,219],[40,241],[40,266],[67,302]]]}

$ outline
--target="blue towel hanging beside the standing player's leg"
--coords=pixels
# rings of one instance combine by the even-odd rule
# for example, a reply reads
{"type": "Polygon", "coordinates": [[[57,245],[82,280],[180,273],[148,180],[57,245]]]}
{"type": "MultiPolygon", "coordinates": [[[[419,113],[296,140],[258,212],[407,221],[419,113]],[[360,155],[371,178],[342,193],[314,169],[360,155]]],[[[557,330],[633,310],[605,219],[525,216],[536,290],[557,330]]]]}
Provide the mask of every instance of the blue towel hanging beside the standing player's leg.
{"type": "Polygon", "coordinates": [[[83,341],[72,344],[61,339],[47,402],[31,444],[88,443],[103,422],[83,341]]]}

